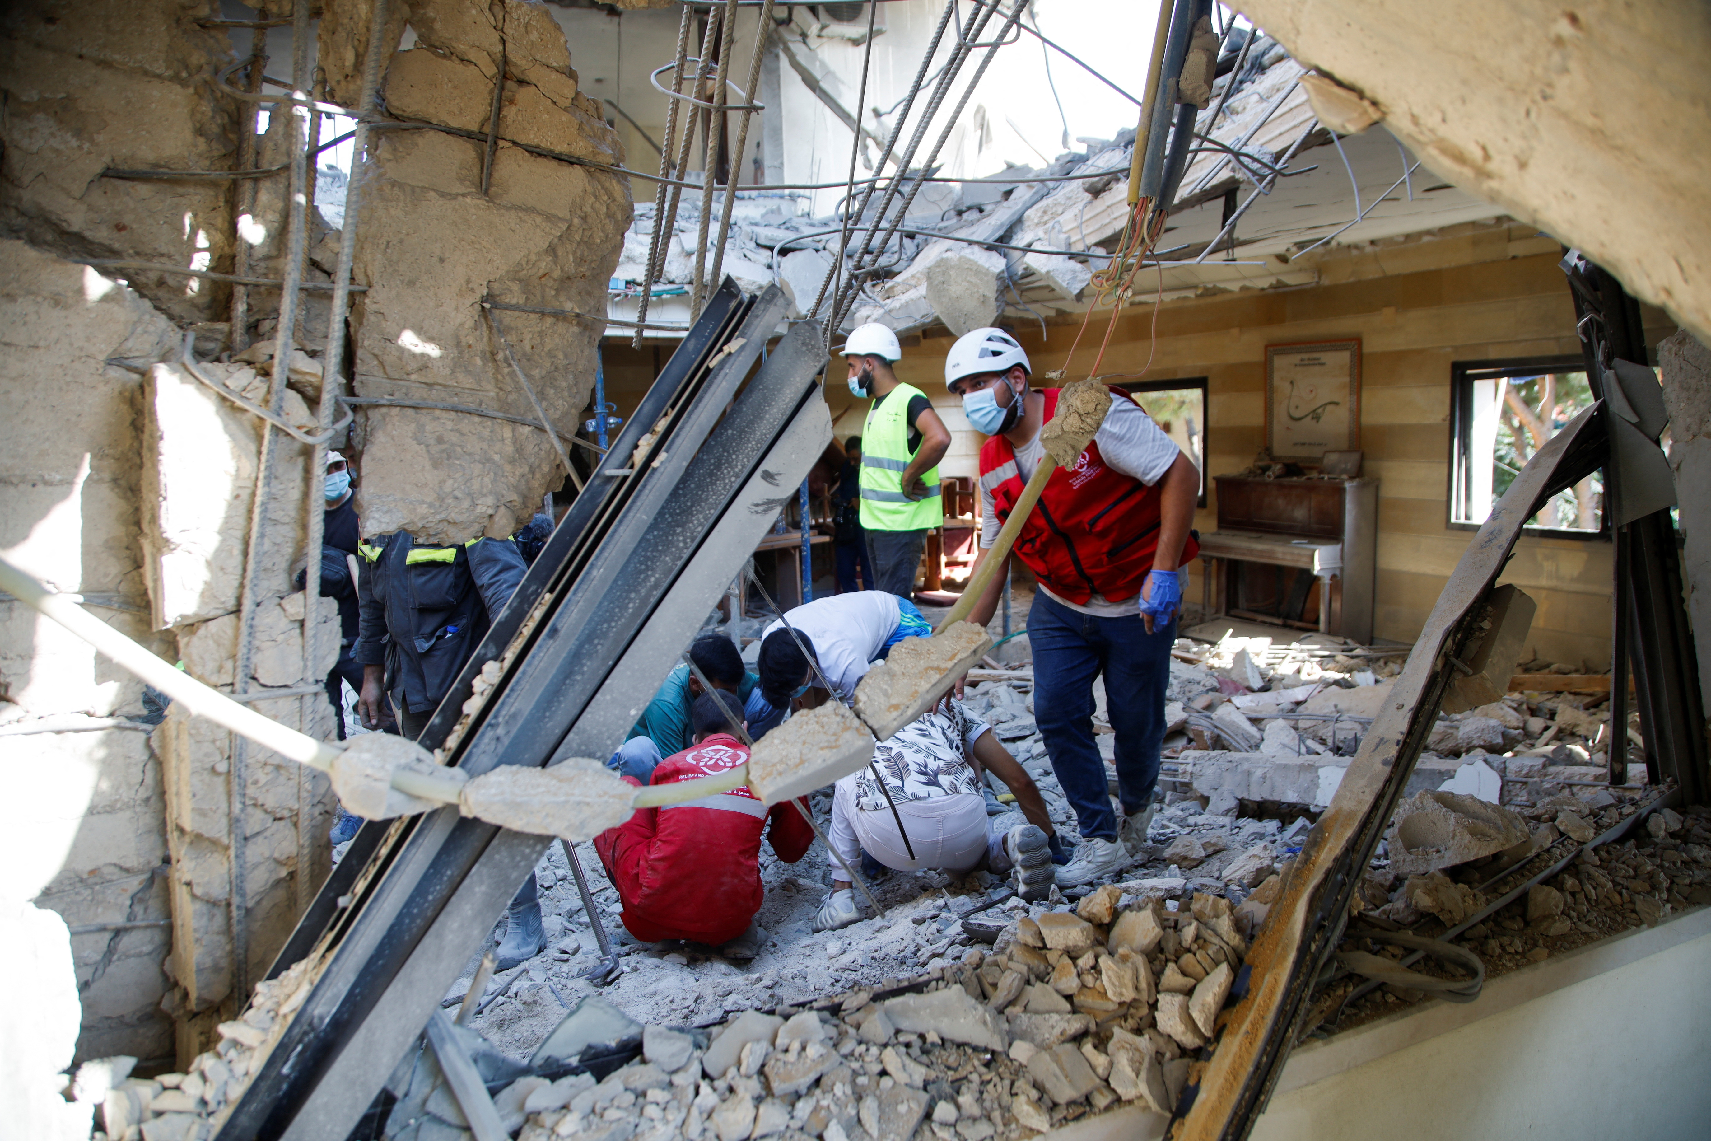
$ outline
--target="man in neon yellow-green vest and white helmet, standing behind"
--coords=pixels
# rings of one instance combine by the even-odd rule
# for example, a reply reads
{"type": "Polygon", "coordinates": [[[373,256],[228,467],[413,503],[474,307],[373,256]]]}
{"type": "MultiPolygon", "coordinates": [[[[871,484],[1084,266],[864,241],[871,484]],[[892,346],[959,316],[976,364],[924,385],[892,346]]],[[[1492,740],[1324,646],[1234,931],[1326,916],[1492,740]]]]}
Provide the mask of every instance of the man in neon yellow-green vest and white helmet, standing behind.
{"type": "Polygon", "coordinates": [[[885,325],[861,325],[844,342],[849,387],[873,399],[862,428],[861,525],[876,587],[903,599],[915,592],[915,568],[927,530],[944,525],[939,460],[951,433],[932,402],[891,371],[903,349],[885,325]]]}

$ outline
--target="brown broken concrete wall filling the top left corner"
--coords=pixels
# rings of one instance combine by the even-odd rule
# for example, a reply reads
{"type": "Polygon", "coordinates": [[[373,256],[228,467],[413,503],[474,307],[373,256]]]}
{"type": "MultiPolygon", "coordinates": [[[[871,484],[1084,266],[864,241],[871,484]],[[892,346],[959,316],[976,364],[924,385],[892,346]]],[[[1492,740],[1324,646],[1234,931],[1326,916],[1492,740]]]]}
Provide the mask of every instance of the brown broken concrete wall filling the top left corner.
{"type": "MultiPolygon", "coordinates": [[[[120,169],[229,169],[238,104],[210,89],[231,44],[198,0],[29,0],[0,17],[0,226],[67,257],[188,269],[231,260],[226,181],[103,178],[120,169]],[[147,113],[140,113],[145,109],[147,113]]],[[[209,281],[120,270],[181,322],[222,316],[209,281]]]]}

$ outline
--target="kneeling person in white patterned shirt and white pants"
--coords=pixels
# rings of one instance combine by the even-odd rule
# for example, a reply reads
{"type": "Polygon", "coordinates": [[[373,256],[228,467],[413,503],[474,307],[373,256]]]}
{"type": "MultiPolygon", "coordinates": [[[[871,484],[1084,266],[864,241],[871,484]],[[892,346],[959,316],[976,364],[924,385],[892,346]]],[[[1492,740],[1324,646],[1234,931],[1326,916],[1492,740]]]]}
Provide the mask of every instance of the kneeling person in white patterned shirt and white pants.
{"type": "Polygon", "coordinates": [[[1009,872],[1023,900],[1051,895],[1057,838],[1045,801],[986,722],[946,700],[874,746],[873,760],[871,766],[840,778],[832,797],[828,838],[837,855],[832,857],[832,896],[814,920],[820,931],[859,919],[838,855],[854,866],[866,852],[898,871],[934,867],[953,876],[984,866],[1009,872]],[[1027,823],[1016,821],[1013,813],[987,816],[982,770],[1009,787],[1027,823]]]}

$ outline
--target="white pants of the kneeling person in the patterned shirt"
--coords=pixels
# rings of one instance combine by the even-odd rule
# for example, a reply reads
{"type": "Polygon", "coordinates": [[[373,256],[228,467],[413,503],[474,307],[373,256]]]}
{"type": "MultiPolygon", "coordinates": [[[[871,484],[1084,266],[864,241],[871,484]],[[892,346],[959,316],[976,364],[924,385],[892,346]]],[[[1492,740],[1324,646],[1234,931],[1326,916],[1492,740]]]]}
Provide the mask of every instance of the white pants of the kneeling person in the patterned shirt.
{"type": "MultiPolygon", "coordinates": [[[[903,818],[909,831],[909,845],[915,855],[910,859],[909,845],[897,831],[897,818],[890,807],[862,809],[856,806],[856,777],[845,777],[837,783],[832,795],[832,872],[844,878],[838,864],[842,855],[850,867],[857,867],[862,850],[886,867],[897,871],[921,871],[934,867],[953,876],[980,867],[987,871],[1009,871],[1009,857],[1004,855],[1004,830],[994,830],[986,814],[986,799],[977,792],[958,792],[946,797],[929,797],[926,801],[898,801],[897,814],[903,818]]],[[[1009,823],[1009,814],[998,818],[1009,823]]]]}

